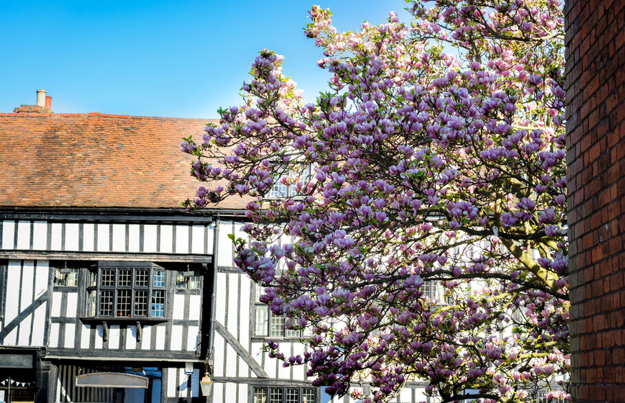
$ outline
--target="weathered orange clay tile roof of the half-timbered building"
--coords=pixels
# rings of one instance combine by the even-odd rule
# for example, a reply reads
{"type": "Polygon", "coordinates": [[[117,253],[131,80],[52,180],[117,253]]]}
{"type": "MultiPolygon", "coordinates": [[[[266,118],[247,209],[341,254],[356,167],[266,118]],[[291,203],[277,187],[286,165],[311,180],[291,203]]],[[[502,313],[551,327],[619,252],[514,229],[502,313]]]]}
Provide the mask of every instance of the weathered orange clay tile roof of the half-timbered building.
{"type": "MultiPolygon", "coordinates": [[[[202,185],[183,137],[206,120],[0,113],[0,206],[181,208],[202,185]]],[[[242,208],[231,197],[218,208],[242,208]]]]}

